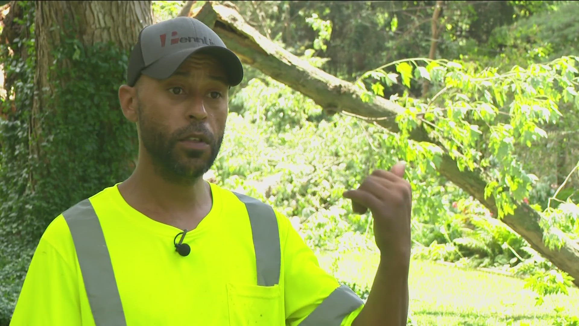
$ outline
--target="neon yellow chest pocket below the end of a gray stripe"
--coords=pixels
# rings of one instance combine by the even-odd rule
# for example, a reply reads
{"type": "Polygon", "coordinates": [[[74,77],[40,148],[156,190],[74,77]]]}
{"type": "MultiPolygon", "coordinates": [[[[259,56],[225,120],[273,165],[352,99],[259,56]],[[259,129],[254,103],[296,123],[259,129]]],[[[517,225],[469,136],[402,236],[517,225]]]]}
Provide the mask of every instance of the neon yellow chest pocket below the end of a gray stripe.
{"type": "Polygon", "coordinates": [[[227,284],[230,326],[283,326],[280,285],[227,284]]]}

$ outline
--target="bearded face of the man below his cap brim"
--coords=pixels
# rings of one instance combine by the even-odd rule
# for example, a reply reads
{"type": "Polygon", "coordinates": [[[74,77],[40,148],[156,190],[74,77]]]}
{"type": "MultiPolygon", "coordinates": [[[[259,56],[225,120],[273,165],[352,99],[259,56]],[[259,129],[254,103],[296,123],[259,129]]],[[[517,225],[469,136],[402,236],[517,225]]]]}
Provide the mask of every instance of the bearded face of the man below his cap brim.
{"type": "Polygon", "coordinates": [[[140,140],[164,179],[190,183],[211,168],[225,131],[228,90],[225,71],[206,55],[190,57],[170,78],[141,77],[140,140]]]}

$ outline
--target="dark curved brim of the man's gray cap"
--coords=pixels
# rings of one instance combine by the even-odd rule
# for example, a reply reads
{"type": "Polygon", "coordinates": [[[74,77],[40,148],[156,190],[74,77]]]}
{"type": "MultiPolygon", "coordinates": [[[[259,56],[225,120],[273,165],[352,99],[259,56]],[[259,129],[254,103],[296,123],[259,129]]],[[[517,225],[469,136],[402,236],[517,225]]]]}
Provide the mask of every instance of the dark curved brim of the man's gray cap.
{"type": "Polygon", "coordinates": [[[193,53],[207,53],[215,56],[215,59],[223,64],[230,86],[239,85],[243,79],[243,66],[241,66],[239,58],[231,50],[217,45],[201,46],[172,53],[153,62],[150,66],[144,68],[141,73],[156,79],[169,78],[181,66],[183,61],[193,53]]]}

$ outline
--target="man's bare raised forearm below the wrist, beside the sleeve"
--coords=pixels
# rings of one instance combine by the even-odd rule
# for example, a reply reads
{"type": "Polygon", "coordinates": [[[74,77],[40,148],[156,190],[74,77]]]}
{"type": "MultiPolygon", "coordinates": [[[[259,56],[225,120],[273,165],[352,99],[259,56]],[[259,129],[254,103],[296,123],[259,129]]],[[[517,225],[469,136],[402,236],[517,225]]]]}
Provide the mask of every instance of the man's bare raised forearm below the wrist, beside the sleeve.
{"type": "Polygon", "coordinates": [[[382,255],[368,300],[352,326],[405,326],[409,259],[382,255]]]}

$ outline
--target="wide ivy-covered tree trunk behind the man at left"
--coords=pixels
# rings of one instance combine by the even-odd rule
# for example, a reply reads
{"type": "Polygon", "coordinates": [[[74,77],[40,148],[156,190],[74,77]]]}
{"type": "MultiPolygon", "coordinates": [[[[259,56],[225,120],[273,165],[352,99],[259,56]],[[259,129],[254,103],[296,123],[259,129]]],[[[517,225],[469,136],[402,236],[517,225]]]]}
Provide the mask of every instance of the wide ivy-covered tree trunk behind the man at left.
{"type": "Polygon", "coordinates": [[[117,92],[152,12],[151,1],[11,5],[0,57],[12,86],[4,107],[14,108],[0,124],[0,278],[12,282],[2,294],[13,305],[46,226],[133,169],[137,133],[117,92]]]}

